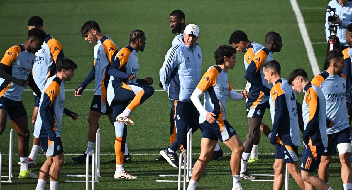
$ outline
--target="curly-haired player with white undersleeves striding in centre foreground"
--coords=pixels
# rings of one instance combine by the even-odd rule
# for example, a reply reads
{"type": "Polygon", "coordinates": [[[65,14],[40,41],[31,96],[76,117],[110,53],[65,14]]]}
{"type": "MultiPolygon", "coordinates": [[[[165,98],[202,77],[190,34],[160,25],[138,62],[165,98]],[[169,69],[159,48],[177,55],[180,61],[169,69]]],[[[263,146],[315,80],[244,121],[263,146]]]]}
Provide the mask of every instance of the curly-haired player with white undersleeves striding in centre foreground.
{"type": "Polygon", "coordinates": [[[187,190],[195,190],[200,178],[212,157],[215,145],[220,139],[231,151],[230,166],[233,179],[233,190],[241,190],[240,164],[243,145],[236,131],[226,120],[226,101],[243,100],[251,96],[247,91],[237,93],[232,89],[227,71],[233,69],[236,61],[236,49],[221,45],[214,52],[216,65],[211,66],[203,75],[191,95],[191,100],[200,113],[199,123],[202,126],[201,153],[194,164],[192,178],[187,190]],[[204,105],[200,96],[204,93],[204,105]]]}

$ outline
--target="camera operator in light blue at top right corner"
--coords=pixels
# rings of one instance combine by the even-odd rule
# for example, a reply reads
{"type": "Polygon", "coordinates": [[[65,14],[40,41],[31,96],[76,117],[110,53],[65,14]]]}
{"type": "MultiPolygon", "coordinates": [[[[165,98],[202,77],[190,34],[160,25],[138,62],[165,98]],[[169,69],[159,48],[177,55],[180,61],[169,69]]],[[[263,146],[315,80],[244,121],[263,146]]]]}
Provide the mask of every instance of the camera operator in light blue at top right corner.
{"type": "MultiPolygon", "coordinates": [[[[348,0],[332,0],[328,4],[328,11],[325,18],[325,34],[326,40],[329,41],[333,25],[337,26],[336,34],[340,41],[341,49],[345,49],[346,44],[345,34],[347,25],[352,23],[352,2],[348,0]],[[329,8],[329,6],[331,8],[329,8]],[[330,17],[329,17],[330,16],[330,17]],[[330,30],[329,30],[330,28],[330,30]]],[[[333,39],[335,40],[335,39],[333,39]]],[[[331,42],[330,42],[331,43],[331,42]]]]}

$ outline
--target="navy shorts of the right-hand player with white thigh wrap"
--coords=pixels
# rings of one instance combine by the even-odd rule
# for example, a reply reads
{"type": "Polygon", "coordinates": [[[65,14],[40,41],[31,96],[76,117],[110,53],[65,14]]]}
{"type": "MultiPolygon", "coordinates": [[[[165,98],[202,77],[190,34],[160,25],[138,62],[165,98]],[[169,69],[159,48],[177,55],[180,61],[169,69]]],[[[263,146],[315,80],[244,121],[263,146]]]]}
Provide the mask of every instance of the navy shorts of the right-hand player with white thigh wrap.
{"type": "Polygon", "coordinates": [[[347,127],[337,133],[328,134],[328,147],[327,151],[324,151],[323,156],[330,156],[336,154],[336,146],[340,143],[349,142],[351,143],[351,129],[347,127]]]}

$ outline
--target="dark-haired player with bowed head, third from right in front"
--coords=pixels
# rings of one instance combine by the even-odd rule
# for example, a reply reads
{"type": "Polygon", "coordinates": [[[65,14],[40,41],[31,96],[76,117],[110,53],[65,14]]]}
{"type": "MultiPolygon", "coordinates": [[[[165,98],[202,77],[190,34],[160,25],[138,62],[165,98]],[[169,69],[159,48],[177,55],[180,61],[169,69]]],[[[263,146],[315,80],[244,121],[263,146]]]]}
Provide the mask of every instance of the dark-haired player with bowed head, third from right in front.
{"type": "Polygon", "coordinates": [[[303,69],[294,69],[288,78],[288,84],[298,93],[304,92],[303,110],[303,153],[301,160],[301,176],[306,189],[332,190],[324,180],[313,176],[318,169],[320,158],[328,146],[326,127],[332,127],[334,122],[327,125],[326,101],[319,87],[308,81],[307,72],[303,69]]]}

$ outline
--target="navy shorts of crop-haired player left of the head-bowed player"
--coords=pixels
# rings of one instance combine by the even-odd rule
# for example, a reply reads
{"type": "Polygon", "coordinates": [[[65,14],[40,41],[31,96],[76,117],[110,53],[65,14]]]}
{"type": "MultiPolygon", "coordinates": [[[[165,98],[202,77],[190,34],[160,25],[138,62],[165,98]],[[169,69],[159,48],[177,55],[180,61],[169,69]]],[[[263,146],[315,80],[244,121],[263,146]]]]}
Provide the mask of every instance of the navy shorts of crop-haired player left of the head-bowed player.
{"type": "Polygon", "coordinates": [[[298,146],[276,144],[275,159],[283,159],[284,163],[298,161],[298,146]]]}

